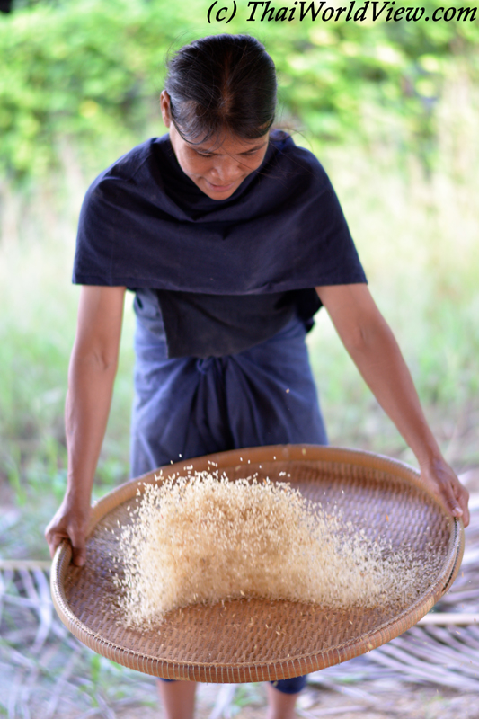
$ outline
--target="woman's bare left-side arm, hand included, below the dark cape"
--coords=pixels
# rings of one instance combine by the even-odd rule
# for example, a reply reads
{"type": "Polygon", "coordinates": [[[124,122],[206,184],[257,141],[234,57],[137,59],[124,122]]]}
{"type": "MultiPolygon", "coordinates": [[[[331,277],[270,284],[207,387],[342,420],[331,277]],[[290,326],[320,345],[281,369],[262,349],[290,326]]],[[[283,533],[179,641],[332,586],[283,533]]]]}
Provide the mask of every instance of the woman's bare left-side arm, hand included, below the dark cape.
{"type": "Polygon", "coordinates": [[[123,287],[83,287],[68,370],[67,492],[45,530],[50,554],[67,538],[84,564],[93,477],[110,412],[120,350],[123,287]]]}

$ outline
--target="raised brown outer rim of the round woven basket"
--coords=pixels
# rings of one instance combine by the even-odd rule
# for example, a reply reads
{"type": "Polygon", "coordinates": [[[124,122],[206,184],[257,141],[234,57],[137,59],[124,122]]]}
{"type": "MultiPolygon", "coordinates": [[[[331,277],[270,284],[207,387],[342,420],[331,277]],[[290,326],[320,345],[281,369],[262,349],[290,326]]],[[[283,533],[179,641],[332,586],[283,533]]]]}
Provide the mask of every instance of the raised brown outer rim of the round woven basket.
{"type": "Polygon", "coordinates": [[[361,653],[375,649],[381,644],[385,644],[387,641],[390,641],[390,639],[402,634],[406,629],[415,625],[421,617],[427,614],[430,608],[432,608],[439,597],[448,590],[448,587],[456,578],[460,560],[464,552],[464,526],[462,520],[453,518],[448,514],[442,502],[439,502],[436,495],[422,482],[421,475],[417,469],[407,465],[401,460],[360,449],[307,444],[271,445],[268,447],[234,449],[158,467],[153,472],[120,484],[120,486],[105,494],[100,500],[94,502],[87,536],[90,536],[98,522],[114,509],[114,507],[135,497],[137,490],[140,489],[141,486],[155,483],[157,481],[156,476],[159,473],[161,473],[164,478],[167,478],[179,471],[185,471],[188,466],[191,466],[191,463],[194,463],[194,467],[198,471],[208,469],[212,465],[218,470],[226,466],[241,466],[242,464],[248,466],[247,463],[243,462],[243,456],[246,453],[250,464],[253,465],[260,464],[261,462],[300,460],[323,462],[333,466],[347,461],[349,464],[355,466],[367,466],[369,469],[384,472],[394,470],[393,474],[395,476],[402,478],[406,484],[412,484],[420,489],[421,492],[425,493],[430,501],[442,511],[443,515],[447,516],[448,519],[454,519],[454,521],[450,522],[448,555],[429,590],[421,595],[420,598],[416,599],[412,605],[404,608],[399,614],[395,615],[395,617],[387,619],[382,624],[376,626],[373,631],[349,639],[342,644],[337,644],[323,652],[310,652],[302,654],[300,657],[290,657],[278,661],[262,661],[261,664],[254,661],[222,662],[220,669],[218,669],[219,665],[215,662],[161,660],[157,656],[147,654],[146,652],[126,649],[120,644],[98,635],[93,629],[77,619],[75,613],[69,607],[64,589],[64,580],[72,557],[71,546],[69,542],[64,541],[58,546],[52,562],[50,586],[53,604],[58,612],[58,616],[72,634],[81,642],[90,646],[95,652],[113,661],[117,661],[120,664],[136,670],[144,671],[148,674],[162,676],[166,679],[193,679],[197,681],[215,682],[218,681],[218,679],[212,677],[212,674],[216,671],[217,676],[219,671],[221,674],[219,681],[238,681],[237,676],[235,676],[235,679],[230,678],[230,670],[236,673],[238,671],[240,672],[243,679],[239,679],[239,681],[262,680],[252,679],[252,670],[255,676],[258,675],[260,670],[263,674],[266,671],[268,674],[266,679],[271,679],[271,670],[273,670],[273,680],[283,679],[297,676],[298,673],[307,673],[309,671],[323,669],[324,667],[346,661],[361,653]],[[246,677],[248,671],[250,673],[249,678],[246,677]],[[226,679],[224,677],[225,674],[226,679]],[[277,674],[278,676],[276,676],[277,674]],[[196,678],[197,676],[199,677],[198,679],[196,678]]]}

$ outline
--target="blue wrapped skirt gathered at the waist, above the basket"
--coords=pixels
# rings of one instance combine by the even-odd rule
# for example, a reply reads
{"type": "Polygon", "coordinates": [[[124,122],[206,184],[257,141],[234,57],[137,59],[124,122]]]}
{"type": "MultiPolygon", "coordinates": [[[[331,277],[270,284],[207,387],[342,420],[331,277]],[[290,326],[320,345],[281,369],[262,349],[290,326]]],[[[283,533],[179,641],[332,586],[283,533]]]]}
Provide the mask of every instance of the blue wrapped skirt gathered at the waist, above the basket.
{"type": "Polygon", "coordinates": [[[137,323],[131,475],[179,458],[271,444],[327,444],[303,322],[222,357],[168,359],[137,323]]]}

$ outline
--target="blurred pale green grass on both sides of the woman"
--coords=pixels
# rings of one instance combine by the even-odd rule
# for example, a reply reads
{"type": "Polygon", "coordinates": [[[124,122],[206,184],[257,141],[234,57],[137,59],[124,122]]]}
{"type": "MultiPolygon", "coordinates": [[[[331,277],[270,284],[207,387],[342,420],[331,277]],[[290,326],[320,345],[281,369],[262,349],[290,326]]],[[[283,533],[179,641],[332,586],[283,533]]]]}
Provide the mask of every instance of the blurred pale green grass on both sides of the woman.
{"type": "MultiPolygon", "coordinates": [[[[474,103],[467,107],[479,120],[474,103]]],[[[477,122],[457,134],[462,111],[459,103],[442,112],[436,169],[428,177],[394,143],[315,146],[342,200],[373,295],[457,470],[479,464],[479,139],[477,122]]],[[[17,215],[0,247],[0,503],[20,510],[8,532],[0,530],[5,556],[47,555],[42,529],[65,488],[63,406],[78,298],[70,274],[87,183],[74,166],[57,185],[17,197],[17,215]]],[[[128,476],[133,324],[127,306],[96,495],[128,476]]],[[[324,310],[308,342],[331,442],[412,461],[324,310]]]]}

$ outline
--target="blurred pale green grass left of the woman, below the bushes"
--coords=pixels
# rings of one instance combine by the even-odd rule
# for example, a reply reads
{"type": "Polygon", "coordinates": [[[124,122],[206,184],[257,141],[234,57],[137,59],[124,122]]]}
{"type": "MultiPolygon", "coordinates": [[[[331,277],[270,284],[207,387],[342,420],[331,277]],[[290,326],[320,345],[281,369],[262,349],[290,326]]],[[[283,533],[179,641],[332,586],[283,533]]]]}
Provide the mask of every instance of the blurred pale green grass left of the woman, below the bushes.
{"type": "MultiPolygon", "coordinates": [[[[72,224],[61,240],[27,236],[1,253],[0,496],[21,510],[7,532],[0,529],[0,554],[6,556],[48,556],[43,528],[67,483],[63,410],[78,300],[70,282],[74,238],[72,224]]],[[[127,309],[95,497],[129,474],[132,333],[127,309]]]]}

